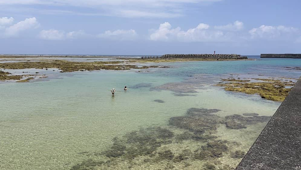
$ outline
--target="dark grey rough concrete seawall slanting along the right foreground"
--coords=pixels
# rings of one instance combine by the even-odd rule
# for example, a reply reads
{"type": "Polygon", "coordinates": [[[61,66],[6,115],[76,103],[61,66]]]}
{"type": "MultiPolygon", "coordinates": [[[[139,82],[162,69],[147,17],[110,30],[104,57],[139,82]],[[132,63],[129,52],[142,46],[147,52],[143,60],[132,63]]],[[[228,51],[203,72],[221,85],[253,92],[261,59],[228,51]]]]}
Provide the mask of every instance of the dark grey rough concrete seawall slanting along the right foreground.
{"type": "Polygon", "coordinates": [[[301,170],[301,77],[236,170],[301,170]]]}

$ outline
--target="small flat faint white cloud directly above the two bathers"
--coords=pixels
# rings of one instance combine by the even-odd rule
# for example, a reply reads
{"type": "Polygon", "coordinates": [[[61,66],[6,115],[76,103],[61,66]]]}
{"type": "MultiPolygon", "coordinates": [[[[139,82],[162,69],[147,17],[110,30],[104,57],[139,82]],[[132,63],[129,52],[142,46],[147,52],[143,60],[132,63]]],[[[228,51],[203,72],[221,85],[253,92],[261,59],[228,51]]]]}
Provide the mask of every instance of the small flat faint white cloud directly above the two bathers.
{"type": "Polygon", "coordinates": [[[98,34],[99,38],[108,38],[115,40],[133,40],[137,37],[135,30],[116,30],[116,31],[105,31],[102,34],[98,34]]]}

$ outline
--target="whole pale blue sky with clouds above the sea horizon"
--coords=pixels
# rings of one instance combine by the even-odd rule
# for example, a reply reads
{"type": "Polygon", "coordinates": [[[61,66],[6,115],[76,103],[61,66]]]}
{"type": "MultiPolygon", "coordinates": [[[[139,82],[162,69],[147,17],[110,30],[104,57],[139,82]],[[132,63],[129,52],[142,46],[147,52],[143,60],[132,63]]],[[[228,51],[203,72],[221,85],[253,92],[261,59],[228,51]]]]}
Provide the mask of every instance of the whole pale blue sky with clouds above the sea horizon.
{"type": "Polygon", "coordinates": [[[0,0],[0,53],[301,53],[300,6],[299,0],[0,0]]]}

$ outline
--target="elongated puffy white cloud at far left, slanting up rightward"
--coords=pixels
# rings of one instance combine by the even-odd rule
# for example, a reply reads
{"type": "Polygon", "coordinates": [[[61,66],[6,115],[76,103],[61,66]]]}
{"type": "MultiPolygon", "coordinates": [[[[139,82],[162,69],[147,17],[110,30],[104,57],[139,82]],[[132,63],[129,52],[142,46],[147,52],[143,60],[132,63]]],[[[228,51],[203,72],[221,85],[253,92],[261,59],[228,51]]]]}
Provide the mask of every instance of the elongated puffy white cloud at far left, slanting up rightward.
{"type": "Polygon", "coordinates": [[[36,18],[26,18],[24,21],[20,21],[17,24],[5,27],[4,36],[17,36],[20,32],[28,29],[38,28],[39,25],[40,24],[36,18]]]}

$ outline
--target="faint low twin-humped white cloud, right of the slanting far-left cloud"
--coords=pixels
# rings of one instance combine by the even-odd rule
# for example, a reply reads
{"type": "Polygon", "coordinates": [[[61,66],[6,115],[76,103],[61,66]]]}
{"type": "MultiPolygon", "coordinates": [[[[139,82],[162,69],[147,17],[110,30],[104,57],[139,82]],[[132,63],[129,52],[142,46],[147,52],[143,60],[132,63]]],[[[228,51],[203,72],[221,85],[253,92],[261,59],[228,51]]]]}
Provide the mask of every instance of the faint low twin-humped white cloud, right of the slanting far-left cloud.
{"type": "Polygon", "coordinates": [[[71,32],[65,32],[55,29],[50,30],[42,30],[39,33],[39,38],[44,40],[65,40],[65,39],[76,39],[76,38],[84,38],[88,34],[85,33],[83,30],[79,31],[71,31],[71,32]]]}

